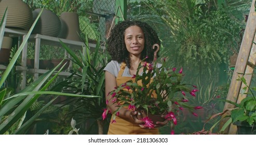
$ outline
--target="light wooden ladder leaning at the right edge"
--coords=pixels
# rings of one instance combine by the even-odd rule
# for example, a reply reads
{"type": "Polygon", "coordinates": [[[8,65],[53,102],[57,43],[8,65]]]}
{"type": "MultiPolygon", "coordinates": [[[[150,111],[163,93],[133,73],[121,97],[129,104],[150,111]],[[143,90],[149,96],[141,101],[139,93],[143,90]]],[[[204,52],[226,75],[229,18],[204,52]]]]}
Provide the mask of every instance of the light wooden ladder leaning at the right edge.
{"type": "MultiPolygon", "coordinates": [[[[249,74],[245,76],[247,85],[250,85],[253,69],[256,64],[256,45],[253,42],[256,42],[255,31],[256,31],[256,6],[255,0],[252,1],[249,17],[247,20],[244,36],[242,37],[241,46],[239,49],[235,70],[232,76],[230,88],[227,94],[227,100],[231,100],[236,103],[240,103],[240,101],[246,97],[246,95],[241,95],[240,91],[244,88],[244,84],[241,81],[237,81],[236,79],[244,74],[249,74]]],[[[225,103],[224,109],[232,109],[235,106],[230,103],[225,103]]],[[[224,115],[227,115],[224,114],[224,115]]],[[[228,118],[223,119],[220,122],[221,128],[224,123],[228,120],[228,118]]],[[[236,134],[237,127],[231,124],[226,130],[227,134],[236,134]]]]}

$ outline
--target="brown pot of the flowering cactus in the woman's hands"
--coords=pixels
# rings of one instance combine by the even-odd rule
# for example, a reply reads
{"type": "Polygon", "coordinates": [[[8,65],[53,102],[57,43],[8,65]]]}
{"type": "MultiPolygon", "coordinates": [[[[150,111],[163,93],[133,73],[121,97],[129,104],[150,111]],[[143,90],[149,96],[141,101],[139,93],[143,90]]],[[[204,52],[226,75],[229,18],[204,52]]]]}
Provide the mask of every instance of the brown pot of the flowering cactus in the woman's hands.
{"type": "Polygon", "coordinates": [[[145,117],[149,117],[152,120],[153,124],[156,124],[157,121],[160,121],[160,122],[165,121],[164,118],[161,118],[161,115],[167,113],[167,111],[165,111],[162,114],[156,115],[156,114],[152,114],[150,112],[149,112],[149,114],[147,114],[146,110],[144,110],[144,109],[138,109],[137,111],[141,113],[141,115],[138,115],[139,120],[142,118],[145,118],[145,117]]]}

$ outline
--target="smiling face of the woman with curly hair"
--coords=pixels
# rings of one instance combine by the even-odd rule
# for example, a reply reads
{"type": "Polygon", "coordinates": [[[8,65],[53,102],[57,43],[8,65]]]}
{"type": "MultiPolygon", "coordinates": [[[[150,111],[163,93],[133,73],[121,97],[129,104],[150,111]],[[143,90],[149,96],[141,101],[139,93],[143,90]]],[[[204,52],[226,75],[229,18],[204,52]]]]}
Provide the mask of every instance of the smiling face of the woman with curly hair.
{"type": "Polygon", "coordinates": [[[140,57],[144,49],[144,33],[139,26],[130,26],[125,30],[125,45],[128,52],[140,57]]]}

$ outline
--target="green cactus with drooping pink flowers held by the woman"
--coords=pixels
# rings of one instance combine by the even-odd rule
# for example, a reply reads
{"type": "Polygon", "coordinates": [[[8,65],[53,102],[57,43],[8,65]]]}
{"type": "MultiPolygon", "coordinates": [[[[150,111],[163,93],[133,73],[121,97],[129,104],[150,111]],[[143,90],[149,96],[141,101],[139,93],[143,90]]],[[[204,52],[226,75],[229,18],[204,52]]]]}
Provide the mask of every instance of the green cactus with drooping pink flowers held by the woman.
{"type": "MultiPolygon", "coordinates": [[[[200,106],[193,107],[187,103],[191,96],[196,96],[195,92],[198,90],[196,86],[182,83],[182,77],[184,76],[182,68],[180,70],[167,68],[165,59],[163,59],[162,64],[157,63],[156,59],[153,64],[147,63],[146,60],[147,57],[142,60],[144,64],[138,67],[136,75],[132,77],[135,78],[135,82],[127,81],[109,92],[112,97],[110,100],[106,100],[106,103],[117,103],[117,107],[119,107],[112,112],[114,114],[112,123],[115,122],[115,117],[122,107],[140,111],[142,114],[141,120],[147,122],[144,126],[148,128],[153,128],[153,124],[160,121],[159,119],[153,120],[150,114],[165,114],[165,119],[176,125],[178,110],[183,110],[183,108],[201,109],[200,106]],[[141,75],[139,75],[140,68],[143,69],[141,75]],[[139,85],[138,82],[142,82],[142,85],[139,85]]],[[[106,108],[102,114],[103,119],[107,112],[109,110],[106,108]]],[[[140,118],[138,117],[138,119],[140,118]]]]}

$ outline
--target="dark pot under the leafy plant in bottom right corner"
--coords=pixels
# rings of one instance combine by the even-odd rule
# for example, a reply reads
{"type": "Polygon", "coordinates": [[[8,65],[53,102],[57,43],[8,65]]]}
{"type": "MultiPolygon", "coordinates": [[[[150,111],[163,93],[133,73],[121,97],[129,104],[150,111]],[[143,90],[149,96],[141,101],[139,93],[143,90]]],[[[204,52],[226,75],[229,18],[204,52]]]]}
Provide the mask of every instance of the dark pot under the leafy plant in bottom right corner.
{"type": "Polygon", "coordinates": [[[233,123],[237,126],[238,135],[256,135],[256,126],[249,125],[248,122],[236,121],[233,123]]]}

